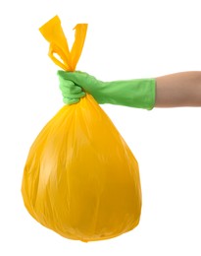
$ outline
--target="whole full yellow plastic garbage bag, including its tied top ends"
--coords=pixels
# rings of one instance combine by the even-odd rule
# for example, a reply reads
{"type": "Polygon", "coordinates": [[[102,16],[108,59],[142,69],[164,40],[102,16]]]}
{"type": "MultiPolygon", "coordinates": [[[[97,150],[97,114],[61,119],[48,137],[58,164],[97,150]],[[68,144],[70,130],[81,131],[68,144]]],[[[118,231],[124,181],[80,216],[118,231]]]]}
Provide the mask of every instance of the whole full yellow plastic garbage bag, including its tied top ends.
{"type": "MultiPolygon", "coordinates": [[[[75,26],[70,51],[58,16],[40,28],[49,56],[66,71],[75,70],[86,30],[86,24],[75,26]]],[[[138,163],[93,96],[64,105],[38,134],[25,162],[22,194],[38,223],[70,239],[108,239],[139,223],[138,163]]]]}

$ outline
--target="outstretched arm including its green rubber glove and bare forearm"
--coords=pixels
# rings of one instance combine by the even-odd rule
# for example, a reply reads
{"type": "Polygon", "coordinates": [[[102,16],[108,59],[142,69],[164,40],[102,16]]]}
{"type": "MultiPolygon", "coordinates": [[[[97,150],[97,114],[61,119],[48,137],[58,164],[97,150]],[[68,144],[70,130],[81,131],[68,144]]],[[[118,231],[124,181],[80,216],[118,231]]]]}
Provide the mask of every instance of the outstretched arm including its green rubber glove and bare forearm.
{"type": "Polygon", "coordinates": [[[64,102],[78,102],[87,92],[98,103],[151,110],[153,107],[201,106],[201,71],[157,78],[102,82],[82,72],[58,72],[64,102]],[[84,92],[83,92],[84,91],[84,92]]]}

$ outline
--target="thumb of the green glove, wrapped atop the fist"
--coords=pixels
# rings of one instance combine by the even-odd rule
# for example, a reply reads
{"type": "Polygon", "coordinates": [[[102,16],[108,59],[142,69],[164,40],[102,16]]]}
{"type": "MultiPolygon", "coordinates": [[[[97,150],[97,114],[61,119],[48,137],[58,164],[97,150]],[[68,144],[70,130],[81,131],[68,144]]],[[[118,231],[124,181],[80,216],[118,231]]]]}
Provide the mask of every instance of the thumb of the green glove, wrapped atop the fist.
{"type": "Polygon", "coordinates": [[[74,82],[77,86],[80,86],[80,87],[82,87],[83,81],[85,81],[87,77],[86,73],[80,72],[80,71],[69,72],[69,71],[58,70],[57,75],[60,78],[74,82]]]}

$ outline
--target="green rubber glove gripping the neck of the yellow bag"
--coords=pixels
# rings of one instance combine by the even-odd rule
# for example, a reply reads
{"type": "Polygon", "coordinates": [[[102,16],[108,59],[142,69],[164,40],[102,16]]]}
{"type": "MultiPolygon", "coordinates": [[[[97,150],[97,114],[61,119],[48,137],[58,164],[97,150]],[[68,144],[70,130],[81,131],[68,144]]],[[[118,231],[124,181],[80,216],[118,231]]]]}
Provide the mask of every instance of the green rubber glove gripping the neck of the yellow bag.
{"type": "Polygon", "coordinates": [[[87,73],[58,71],[66,104],[76,103],[85,92],[100,104],[111,103],[151,110],[155,105],[154,78],[102,82],[87,73]]]}

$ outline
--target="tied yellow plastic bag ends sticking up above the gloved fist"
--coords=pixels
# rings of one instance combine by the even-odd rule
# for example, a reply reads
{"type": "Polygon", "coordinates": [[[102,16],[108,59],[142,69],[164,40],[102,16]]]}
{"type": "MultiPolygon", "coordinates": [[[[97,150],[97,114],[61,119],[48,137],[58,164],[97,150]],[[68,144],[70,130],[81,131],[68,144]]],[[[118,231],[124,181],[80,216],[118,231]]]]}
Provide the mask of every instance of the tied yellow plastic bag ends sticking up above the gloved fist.
{"type": "Polygon", "coordinates": [[[70,51],[67,38],[62,30],[61,21],[58,16],[52,18],[39,29],[45,39],[50,43],[49,57],[56,65],[66,71],[75,71],[76,63],[83,48],[87,24],[77,24],[74,30],[75,41],[70,51]],[[59,55],[63,62],[54,56],[55,53],[59,55]]]}

